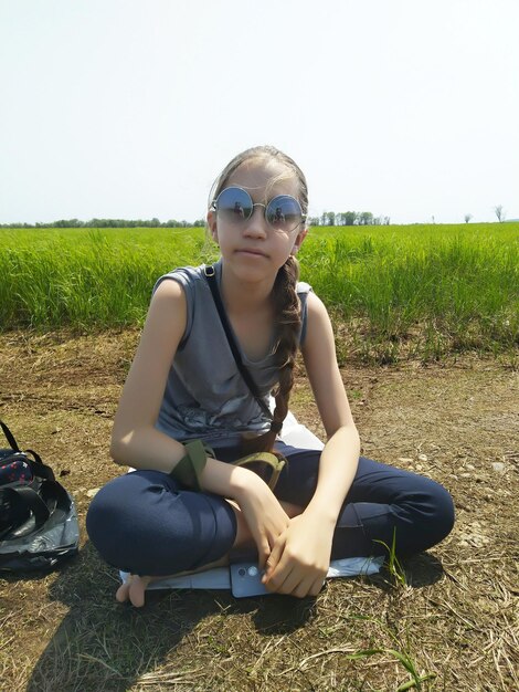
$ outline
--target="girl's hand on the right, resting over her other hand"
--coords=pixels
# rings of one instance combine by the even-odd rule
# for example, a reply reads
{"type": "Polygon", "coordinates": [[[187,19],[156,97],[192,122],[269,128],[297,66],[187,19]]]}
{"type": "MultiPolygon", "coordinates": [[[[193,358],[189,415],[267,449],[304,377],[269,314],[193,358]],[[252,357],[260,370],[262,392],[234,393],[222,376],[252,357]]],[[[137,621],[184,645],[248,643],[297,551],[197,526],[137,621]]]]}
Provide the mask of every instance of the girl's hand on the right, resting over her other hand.
{"type": "Polygon", "coordinates": [[[333,528],[311,513],[292,518],[267,559],[265,587],[298,598],[317,596],[330,565],[333,528]]]}

